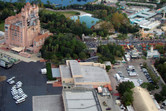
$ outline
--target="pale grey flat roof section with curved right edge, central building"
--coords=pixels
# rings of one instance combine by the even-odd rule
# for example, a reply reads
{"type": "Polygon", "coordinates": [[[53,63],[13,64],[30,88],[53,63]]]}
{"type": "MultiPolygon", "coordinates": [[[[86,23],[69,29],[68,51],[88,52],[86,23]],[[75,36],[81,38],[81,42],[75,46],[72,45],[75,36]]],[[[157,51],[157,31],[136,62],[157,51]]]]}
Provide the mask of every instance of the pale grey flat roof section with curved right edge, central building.
{"type": "Polygon", "coordinates": [[[83,77],[74,78],[75,82],[110,82],[105,69],[95,66],[80,66],[83,77]]]}

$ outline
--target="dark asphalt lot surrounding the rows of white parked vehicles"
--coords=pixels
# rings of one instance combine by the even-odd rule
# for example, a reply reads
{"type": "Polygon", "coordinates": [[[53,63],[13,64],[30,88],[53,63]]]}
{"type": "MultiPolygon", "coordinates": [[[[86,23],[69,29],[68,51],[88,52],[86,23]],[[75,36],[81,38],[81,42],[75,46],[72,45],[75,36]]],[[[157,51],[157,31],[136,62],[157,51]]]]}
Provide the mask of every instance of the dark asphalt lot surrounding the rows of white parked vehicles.
{"type": "Polygon", "coordinates": [[[0,68],[0,75],[15,76],[15,82],[23,83],[22,89],[28,95],[23,103],[16,104],[11,95],[11,87],[6,81],[0,83],[0,111],[32,111],[32,96],[61,94],[61,87],[46,85],[46,76],[40,73],[45,67],[40,62],[20,62],[10,69],[0,68]]]}

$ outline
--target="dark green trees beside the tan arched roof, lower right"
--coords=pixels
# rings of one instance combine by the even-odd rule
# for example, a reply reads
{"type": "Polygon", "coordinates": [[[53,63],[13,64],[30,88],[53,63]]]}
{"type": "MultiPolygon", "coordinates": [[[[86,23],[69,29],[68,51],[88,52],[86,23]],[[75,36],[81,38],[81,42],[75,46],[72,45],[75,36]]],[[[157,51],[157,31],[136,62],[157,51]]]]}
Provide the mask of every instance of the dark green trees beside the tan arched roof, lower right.
{"type": "Polygon", "coordinates": [[[116,87],[125,106],[131,105],[134,100],[132,88],[134,88],[134,83],[130,81],[122,82],[116,87]]]}

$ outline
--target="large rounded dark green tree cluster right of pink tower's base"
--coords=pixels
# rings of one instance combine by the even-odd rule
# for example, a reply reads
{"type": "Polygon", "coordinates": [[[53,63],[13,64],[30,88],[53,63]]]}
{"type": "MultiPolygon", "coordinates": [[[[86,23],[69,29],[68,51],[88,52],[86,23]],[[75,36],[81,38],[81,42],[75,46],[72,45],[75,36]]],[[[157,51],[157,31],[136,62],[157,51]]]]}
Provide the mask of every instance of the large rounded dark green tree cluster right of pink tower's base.
{"type": "Polygon", "coordinates": [[[86,45],[71,33],[56,34],[46,39],[41,54],[44,59],[59,64],[67,59],[86,59],[89,54],[86,45]]]}

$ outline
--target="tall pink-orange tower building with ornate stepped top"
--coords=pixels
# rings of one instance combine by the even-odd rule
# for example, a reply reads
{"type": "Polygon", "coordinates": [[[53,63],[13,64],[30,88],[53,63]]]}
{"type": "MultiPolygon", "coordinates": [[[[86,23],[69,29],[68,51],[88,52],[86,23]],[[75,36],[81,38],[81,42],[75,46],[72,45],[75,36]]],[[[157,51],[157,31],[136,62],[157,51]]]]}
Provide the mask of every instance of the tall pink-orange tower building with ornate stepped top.
{"type": "Polygon", "coordinates": [[[49,34],[40,33],[43,31],[40,29],[38,12],[37,5],[26,3],[19,14],[10,16],[5,20],[5,43],[9,48],[22,47],[27,49],[33,48],[33,45],[38,41],[40,41],[38,46],[44,43],[49,34]]]}

